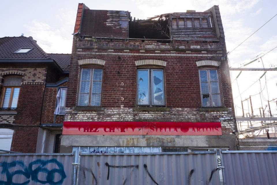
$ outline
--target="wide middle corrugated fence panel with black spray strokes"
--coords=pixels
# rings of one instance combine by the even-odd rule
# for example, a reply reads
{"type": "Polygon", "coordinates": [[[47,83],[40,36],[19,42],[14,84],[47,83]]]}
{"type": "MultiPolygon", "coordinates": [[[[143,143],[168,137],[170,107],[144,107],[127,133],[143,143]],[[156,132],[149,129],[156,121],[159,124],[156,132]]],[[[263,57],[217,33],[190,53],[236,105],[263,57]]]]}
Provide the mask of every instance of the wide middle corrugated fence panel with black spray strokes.
{"type": "Polygon", "coordinates": [[[81,154],[79,184],[218,184],[215,152],[81,154]]]}

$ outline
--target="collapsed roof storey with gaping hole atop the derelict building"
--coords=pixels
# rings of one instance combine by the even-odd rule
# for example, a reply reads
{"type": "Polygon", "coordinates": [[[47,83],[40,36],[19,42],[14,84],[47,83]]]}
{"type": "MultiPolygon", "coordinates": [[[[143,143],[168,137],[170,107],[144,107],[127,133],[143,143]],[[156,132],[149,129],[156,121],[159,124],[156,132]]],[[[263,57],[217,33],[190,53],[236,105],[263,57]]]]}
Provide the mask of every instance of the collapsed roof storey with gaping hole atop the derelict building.
{"type": "Polygon", "coordinates": [[[79,3],[73,34],[81,37],[159,40],[219,40],[224,37],[217,5],[204,12],[187,10],[146,20],[132,20],[128,11],[90,10],[79,3]]]}

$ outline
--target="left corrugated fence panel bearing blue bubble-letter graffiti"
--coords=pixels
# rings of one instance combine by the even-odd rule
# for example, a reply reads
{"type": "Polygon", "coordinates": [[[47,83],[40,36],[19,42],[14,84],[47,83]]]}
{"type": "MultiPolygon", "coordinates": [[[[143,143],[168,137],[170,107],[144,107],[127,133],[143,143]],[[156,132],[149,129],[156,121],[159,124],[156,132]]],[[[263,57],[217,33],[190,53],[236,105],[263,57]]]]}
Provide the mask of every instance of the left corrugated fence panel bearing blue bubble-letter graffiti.
{"type": "Polygon", "coordinates": [[[0,184],[72,183],[73,153],[1,153],[0,184]]]}

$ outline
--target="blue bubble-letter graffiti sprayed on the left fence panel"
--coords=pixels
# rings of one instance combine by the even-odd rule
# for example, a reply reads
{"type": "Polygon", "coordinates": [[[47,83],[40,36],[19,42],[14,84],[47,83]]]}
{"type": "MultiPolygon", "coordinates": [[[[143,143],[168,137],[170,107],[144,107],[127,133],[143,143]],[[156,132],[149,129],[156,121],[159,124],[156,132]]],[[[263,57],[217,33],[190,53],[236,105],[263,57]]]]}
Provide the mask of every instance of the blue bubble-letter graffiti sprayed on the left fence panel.
{"type": "MultiPolygon", "coordinates": [[[[53,166],[51,164],[51,166],[53,166]]],[[[30,162],[28,167],[24,164],[23,161],[17,160],[13,162],[1,162],[0,167],[2,167],[1,174],[5,174],[7,177],[7,181],[0,181],[0,185],[25,185],[29,184],[30,180],[29,178],[31,177],[31,180],[34,182],[39,182],[41,184],[50,184],[50,185],[60,185],[63,183],[63,180],[66,178],[64,169],[63,169],[63,164],[57,161],[56,159],[50,159],[50,160],[35,160],[33,162],[30,162]],[[54,169],[47,169],[46,165],[49,163],[56,164],[59,169],[54,168],[54,169]],[[33,166],[37,165],[35,169],[33,169],[33,166]],[[21,170],[16,170],[10,172],[9,169],[16,167],[16,168],[21,168],[21,170]],[[46,173],[46,180],[39,180],[38,179],[38,173],[46,173]],[[57,182],[54,182],[54,177],[55,173],[58,173],[60,175],[60,180],[57,182]],[[28,180],[25,182],[21,183],[15,183],[13,182],[13,177],[14,175],[24,175],[28,180]]]]}

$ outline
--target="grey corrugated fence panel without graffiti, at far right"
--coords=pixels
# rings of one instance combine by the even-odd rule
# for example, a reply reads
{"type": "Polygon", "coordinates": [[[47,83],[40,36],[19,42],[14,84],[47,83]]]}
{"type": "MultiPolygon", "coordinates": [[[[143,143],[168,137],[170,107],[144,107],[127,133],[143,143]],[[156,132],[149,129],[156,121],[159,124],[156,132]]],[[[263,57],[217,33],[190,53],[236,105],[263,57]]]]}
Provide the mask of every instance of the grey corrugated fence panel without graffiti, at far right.
{"type": "Polygon", "coordinates": [[[277,151],[222,151],[226,184],[277,184],[277,151]]]}

